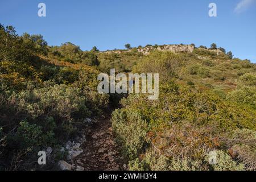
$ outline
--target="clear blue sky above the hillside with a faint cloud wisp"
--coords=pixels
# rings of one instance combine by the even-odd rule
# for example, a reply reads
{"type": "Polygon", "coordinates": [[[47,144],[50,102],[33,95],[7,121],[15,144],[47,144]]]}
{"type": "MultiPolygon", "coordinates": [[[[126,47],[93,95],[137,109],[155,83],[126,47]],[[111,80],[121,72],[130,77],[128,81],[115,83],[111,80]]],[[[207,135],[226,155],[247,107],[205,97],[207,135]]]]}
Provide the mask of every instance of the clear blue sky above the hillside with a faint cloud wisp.
{"type": "Polygon", "coordinates": [[[50,46],[82,50],[146,44],[216,43],[256,63],[256,0],[1,0],[0,23],[18,34],[42,34],[50,46]],[[38,4],[46,4],[46,17],[38,4]],[[217,17],[209,17],[209,3],[217,17]]]}

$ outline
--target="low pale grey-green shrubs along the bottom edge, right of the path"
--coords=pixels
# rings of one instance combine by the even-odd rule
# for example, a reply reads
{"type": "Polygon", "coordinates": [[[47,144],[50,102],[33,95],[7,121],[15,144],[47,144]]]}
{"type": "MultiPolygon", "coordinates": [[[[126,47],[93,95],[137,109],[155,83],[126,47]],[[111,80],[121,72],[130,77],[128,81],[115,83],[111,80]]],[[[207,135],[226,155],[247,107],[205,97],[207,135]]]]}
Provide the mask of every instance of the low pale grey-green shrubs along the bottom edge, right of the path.
{"type": "Polygon", "coordinates": [[[154,170],[154,171],[199,171],[199,170],[216,170],[216,171],[242,171],[244,166],[237,163],[230,155],[223,151],[216,150],[216,164],[209,164],[209,155],[205,155],[202,160],[168,159],[166,156],[156,151],[148,152],[142,161],[137,158],[129,163],[130,170],[154,170]]]}

